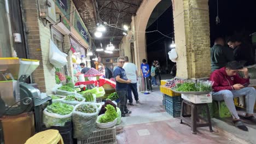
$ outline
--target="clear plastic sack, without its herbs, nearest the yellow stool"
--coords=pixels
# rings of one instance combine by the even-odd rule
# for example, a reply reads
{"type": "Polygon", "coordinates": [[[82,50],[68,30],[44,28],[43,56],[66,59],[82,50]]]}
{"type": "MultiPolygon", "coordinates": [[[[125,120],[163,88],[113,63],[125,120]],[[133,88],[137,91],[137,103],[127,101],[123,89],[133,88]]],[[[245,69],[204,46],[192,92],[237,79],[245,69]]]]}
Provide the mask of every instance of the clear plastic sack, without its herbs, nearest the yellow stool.
{"type": "Polygon", "coordinates": [[[49,128],[51,126],[63,127],[66,122],[71,122],[72,120],[71,116],[72,116],[72,112],[69,113],[68,115],[59,115],[57,113],[50,113],[47,111],[47,108],[45,108],[43,111],[43,123],[45,124],[46,128],[49,128]]]}

